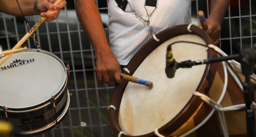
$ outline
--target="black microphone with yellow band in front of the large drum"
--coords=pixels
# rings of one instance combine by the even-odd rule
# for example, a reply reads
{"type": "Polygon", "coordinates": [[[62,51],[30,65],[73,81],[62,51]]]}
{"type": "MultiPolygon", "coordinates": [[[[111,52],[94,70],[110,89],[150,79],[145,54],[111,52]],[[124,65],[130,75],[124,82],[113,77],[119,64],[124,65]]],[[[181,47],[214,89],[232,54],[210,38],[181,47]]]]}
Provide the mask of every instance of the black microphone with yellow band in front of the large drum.
{"type": "Polygon", "coordinates": [[[176,60],[173,58],[171,45],[168,45],[166,50],[166,67],[165,67],[166,76],[168,78],[173,78],[178,68],[179,68],[179,63],[176,62],[176,60]]]}

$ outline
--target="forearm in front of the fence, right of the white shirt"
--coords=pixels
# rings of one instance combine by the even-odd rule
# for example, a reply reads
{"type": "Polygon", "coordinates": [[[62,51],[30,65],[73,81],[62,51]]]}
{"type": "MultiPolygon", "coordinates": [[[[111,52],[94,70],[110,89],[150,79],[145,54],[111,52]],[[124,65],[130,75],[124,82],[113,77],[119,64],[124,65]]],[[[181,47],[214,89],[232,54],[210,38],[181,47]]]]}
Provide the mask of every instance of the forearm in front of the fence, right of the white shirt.
{"type": "Polygon", "coordinates": [[[222,24],[229,3],[230,0],[211,0],[211,14],[209,17],[222,24]]]}

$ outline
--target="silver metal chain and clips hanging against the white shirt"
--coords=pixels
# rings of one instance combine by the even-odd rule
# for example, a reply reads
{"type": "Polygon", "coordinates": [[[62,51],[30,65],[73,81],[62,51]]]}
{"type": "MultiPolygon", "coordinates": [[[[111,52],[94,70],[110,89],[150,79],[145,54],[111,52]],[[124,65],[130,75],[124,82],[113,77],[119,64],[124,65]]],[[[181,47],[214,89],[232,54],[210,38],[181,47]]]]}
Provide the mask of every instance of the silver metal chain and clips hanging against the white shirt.
{"type": "Polygon", "coordinates": [[[155,7],[155,9],[151,12],[151,14],[148,14],[148,10],[146,8],[146,6],[144,5],[145,9],[146,9],[146,12],[147,12],[147,17],[148,19],[145,19],[143,18],[139,13],[137,13],[136,11],[133,10],[131,4],[128,2],[130,8],[131,8],[131,11],[125,11],[125,12],[131,12],[135,15],[136,18],[140,18],[141,20],[143,20],[144,22],[146,22],[146,24],[149,26],[150,30],[150,34],[153,36],[153,34],[156,34],[156,31],[154,30],[154,28],[151,26],[151,22],[150,22],[150,16],[153,14],[153,12],[156,10],[157,7],[155,7]]]}

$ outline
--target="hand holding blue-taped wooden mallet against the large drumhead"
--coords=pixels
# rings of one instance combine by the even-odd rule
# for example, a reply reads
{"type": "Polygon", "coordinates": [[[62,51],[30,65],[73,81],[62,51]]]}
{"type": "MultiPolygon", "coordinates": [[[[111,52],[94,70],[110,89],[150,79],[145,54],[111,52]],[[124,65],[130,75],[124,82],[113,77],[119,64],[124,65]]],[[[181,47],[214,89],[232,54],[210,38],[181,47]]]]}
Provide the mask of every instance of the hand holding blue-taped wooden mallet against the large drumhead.
{"type": "Polygon", "coordinates": [[[97,56],[96,67],[97,77],[101,84],[110,84],[114,81],[116,83],[121,82],[122,71],[120,64],[111,51],[97,56]]]}

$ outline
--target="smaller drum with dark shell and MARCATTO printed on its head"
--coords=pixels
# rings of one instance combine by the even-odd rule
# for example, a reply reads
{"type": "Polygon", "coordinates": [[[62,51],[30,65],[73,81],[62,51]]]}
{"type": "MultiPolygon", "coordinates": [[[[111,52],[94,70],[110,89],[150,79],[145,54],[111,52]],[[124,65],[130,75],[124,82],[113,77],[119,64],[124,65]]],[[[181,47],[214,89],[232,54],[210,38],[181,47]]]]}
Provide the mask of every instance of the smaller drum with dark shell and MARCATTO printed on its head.
{"type": "Polygon", "coordinates": [[[0,81],[0,119],[9,121],[17,135],[58,126],[68,111],[66,68],[52,53],[36,49],[14,53],[0,66],[0,81]]]}

